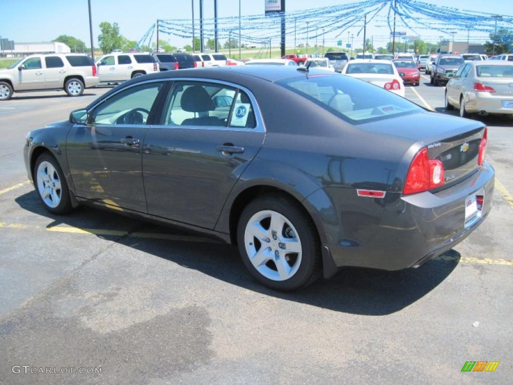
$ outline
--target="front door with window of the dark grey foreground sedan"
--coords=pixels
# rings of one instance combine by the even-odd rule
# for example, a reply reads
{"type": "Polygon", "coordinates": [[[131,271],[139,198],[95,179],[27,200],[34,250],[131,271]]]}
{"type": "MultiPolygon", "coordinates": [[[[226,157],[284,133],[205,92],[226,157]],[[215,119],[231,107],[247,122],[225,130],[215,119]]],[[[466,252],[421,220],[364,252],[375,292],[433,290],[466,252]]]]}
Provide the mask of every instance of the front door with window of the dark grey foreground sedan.
{"type": "Polygon", "coordinates": [[[127,87],[72,127],[66,152],[77,196],[146,212],[142,144],[163,84],[127,87]]]}

